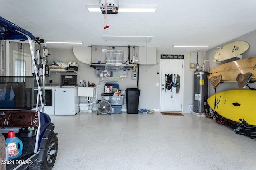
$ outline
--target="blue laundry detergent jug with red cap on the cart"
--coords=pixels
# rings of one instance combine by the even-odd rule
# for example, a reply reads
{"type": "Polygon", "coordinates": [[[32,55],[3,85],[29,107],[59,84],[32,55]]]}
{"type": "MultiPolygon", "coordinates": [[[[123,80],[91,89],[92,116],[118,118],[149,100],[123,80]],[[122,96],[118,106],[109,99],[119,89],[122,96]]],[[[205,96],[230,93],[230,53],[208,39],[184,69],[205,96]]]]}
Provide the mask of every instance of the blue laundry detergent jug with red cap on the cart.
{"type": "Polygon", "coordinates": [[[15,136],[14,131],[8,132],[5,143],[8,149],[8,160],[12,160],[21,156],[23,143],[18,137],[15,136]]]}

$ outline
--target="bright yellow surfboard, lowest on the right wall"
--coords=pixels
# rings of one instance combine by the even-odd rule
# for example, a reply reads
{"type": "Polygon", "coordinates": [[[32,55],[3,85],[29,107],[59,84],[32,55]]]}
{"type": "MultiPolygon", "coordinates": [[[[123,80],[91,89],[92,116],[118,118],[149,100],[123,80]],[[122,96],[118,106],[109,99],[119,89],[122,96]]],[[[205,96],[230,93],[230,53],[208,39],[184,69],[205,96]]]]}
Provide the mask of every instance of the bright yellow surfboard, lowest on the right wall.
{"type": "Polygon", "coordinates": [[[244,119],[249,125],[256,126],[256,90],[235,89],[216,93],[208,98],[209,106],[219,115],[232,121],[244,119]],[[214,101],[216,105],[214,108],[214,101]]]}

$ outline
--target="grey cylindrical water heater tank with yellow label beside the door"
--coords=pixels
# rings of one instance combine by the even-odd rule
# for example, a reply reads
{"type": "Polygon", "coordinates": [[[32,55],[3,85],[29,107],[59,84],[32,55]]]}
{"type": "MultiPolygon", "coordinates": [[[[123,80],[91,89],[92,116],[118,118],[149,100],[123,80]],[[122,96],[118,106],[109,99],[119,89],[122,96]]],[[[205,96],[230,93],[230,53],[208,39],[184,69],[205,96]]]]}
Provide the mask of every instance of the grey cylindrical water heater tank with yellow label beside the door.
{"type": "Polygon", "coordinates": [[[203,113],[205,98],[208,98],[208,72],[194,72],[194,109],[196,113],[203,113]]]}

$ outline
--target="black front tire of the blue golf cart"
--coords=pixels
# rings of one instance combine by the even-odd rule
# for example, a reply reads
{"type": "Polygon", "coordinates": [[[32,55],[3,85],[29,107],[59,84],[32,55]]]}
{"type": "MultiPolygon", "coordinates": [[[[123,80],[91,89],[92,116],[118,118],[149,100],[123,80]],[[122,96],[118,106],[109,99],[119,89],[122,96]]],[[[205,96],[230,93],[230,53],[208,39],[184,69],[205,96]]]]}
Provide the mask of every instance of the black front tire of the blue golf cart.
{"type": "Polygon", "coordinates": [[[50,140],[48,142],[47,148],[46,148],[46,154],[44,156],[44,161],[40,164],[34,162],[29,169],[30,170],[51,170],[54,166],[56,157],[58,152],[58,138],[57,135],[52,132],[52,135],[50,136],[50,140]]]}

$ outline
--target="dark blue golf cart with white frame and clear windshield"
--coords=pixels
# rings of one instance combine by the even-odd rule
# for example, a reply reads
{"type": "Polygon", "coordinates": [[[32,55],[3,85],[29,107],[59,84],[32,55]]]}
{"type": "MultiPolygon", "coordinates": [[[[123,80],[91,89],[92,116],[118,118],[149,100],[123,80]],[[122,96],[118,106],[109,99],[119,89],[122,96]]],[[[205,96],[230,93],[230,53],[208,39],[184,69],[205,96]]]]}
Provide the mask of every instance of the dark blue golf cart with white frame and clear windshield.
{"type": "MultiPolygon", "coordinates": [[[[56,160],[58,139],[49,115],[43,113],[44,86],[42,88],[41,84],[44,82],[41,82],[37,68],[41,56],[40,52],[35,54],[34,51],[35,43],[43,43],[43,40],[0,17],[1,51],[4,51],[5,40],[16,39],[28,41],[34,73],[31,76],[5,76],[2,72],[0,76],[0,144],[5,143],[10,131],[14,131],[23,143],[22,154],[10,160],[4,159],[6,148],[0,145],[0,169],[50,170],[56,160]]],[[[1,57],[5,55],[0,54],[1,57]]]]}

